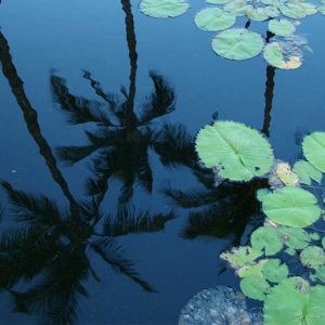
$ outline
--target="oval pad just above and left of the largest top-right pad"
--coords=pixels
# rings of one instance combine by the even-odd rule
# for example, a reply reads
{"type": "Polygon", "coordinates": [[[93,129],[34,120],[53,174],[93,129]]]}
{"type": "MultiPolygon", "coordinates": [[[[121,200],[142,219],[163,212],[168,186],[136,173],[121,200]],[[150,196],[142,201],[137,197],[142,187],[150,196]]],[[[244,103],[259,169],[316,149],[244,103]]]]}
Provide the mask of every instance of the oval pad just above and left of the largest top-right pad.
{"type": "Polygon", "coordinates": [[[212,31],[233,26],[236,22],[236,16],[216,6],[202,10],[196,14],[194,21],[198,28],[212,31]]]}

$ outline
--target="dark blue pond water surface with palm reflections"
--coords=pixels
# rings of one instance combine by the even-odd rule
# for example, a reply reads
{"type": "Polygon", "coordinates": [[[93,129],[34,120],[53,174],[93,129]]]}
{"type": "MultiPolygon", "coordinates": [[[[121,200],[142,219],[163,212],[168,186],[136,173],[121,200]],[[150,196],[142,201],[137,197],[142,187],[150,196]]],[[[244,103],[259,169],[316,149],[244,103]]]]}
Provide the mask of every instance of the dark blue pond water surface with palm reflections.
{"type": "Polygon", "coordinates": [[[263,184],[216,190],[193,136],[218,112],[294,161],[324,130],[325,21],[302,22],[313,53],[282,72],[216,56],[204,5],[2,1],[1,324],[176,324],[198,290],[237,286],[219,255],[261,222],[263,184]]]}

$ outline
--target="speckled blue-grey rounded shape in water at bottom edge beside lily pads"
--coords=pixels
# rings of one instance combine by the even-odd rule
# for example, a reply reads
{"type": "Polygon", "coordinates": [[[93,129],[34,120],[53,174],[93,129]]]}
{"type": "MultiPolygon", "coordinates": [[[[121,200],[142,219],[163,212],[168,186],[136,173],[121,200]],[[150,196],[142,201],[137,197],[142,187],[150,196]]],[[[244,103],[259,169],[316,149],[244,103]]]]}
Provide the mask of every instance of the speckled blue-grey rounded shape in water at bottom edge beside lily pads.
{"type": "Polygon", "coordinates": [[[179,325],[262,325],[261,313],[247,310],[245,297],[218,286],[195,295],[183,308],[179,325]]]}

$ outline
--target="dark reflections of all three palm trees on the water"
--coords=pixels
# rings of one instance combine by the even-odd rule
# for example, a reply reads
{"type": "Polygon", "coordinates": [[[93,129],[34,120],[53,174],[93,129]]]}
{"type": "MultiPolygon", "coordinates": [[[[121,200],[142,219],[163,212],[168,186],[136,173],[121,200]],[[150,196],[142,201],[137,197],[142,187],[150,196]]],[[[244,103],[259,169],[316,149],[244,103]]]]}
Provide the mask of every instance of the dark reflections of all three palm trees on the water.
{"type": "MultiPolygon", "coordinates": [[[[119,236],[128,234],[159,232],[176,218],[173,211],[152,213],[130,205],[135,184],[148,194],[153,191],[150,152],[157,155],[162,166],[190,169],[200,186],[193,191],[162,190],[176,206],[190,210],[182,231],[184,238],[232,237],[231,245],[238,245],[247,224],[261,221],[255,194],[265,186],[265,181],[222,182],[216,186],[213,172],[197,162],[194,136],[186,127],[161,121],[176,109],[176,92],[165,77],[150,72],[154,90],[138,106],[136,38],[130,1],[121,0],[121,8],[130,60],[128,89],[121,88],[119,94],[105,92],[92,74],[84,72],[83,78],[99,96],[99,101],[94,101],[72,94],[65,79],[51,76],[54,102],[67,114],[68,122],[92,122],[95,127],[86,131],[88,143],[84,145],[57,148],[60,159],[69,166],[91,159],[91,177],[84,188],[88,197],[81,202],[72,194],[51,146],[42,135],[37,112],[28,101],[8,41],[0,32],[3,75],[22,109],[30,136],[68,203],[67,207],[60,206],[46,195],[17,191],[8,182],[1,183],[14,224],[2,232],[0,240],[0,289],[12,296],[15,312],[39,314],[47,324],[72,324],[77,320],[78,299],[88,297],[84,283],[90,277],[100,282],[91,262],[92,253],[144,290],[155,291],[141,277],[135,263],[123,256],[118,242],[119,236]],[[118,209],[116,214],[104,214],[101,208],[109,194],[112,178],[121,183],[118,209]]],[[[274,68],[266,68],[262,128],[266,136],[270,135],[274,74],[274,68]]]]}

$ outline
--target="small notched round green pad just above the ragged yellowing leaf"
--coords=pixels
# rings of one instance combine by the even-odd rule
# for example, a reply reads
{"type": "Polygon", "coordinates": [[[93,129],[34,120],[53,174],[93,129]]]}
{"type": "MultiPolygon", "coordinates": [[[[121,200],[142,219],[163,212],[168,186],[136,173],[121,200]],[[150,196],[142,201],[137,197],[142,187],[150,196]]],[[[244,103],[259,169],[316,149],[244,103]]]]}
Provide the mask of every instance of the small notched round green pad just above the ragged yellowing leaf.
{"type": "Polygon", "coordinates": [[[265,255],[275,255],[281,251],[283,242],[277,230],[272,226],[260,226],[250,236],[251,247],[265,250],[265,255]]]}

